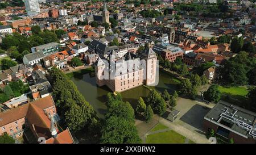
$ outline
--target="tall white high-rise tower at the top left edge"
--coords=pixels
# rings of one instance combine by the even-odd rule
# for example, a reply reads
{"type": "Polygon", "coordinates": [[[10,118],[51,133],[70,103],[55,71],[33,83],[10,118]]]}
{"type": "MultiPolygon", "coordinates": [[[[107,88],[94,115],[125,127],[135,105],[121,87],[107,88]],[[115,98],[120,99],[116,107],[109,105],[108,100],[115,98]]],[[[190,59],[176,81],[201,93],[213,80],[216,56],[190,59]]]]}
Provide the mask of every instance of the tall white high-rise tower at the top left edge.
{"type": "Polygon", "coordinates": [[[28,16],[35,16],[40,13],[38,0],[24,0],[28,16]]]}

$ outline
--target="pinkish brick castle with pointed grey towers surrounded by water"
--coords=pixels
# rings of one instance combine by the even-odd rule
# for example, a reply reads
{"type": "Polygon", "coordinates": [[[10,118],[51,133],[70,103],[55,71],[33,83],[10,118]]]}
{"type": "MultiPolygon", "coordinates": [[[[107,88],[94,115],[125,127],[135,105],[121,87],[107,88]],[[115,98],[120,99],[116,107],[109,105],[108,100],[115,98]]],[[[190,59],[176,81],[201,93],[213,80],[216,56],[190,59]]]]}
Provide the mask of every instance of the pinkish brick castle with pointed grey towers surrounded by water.
{"type": "Polygon", "coordinates": [[[121,92],[158,82],[157,56],[151,48],[141,53],[127,52],[123,57],[113,50],[108,57],[99,57],[94,65],[97,85],[106,85],[112,91],[121,92]]]}

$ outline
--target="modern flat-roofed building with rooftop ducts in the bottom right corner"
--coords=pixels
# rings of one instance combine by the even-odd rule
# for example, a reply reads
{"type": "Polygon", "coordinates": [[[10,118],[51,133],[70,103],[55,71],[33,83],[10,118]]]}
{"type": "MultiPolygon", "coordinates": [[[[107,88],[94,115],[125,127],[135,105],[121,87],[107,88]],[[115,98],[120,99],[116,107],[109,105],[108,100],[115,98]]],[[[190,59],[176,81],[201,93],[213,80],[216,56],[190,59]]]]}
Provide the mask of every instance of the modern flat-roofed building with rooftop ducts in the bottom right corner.
{"type": "Polygon", "coordinates": [[[234,143],[256,143],[256,114],[252,111],[220,100],[204,116],[203,127],[206,132],[232,139],[234,143]]]}

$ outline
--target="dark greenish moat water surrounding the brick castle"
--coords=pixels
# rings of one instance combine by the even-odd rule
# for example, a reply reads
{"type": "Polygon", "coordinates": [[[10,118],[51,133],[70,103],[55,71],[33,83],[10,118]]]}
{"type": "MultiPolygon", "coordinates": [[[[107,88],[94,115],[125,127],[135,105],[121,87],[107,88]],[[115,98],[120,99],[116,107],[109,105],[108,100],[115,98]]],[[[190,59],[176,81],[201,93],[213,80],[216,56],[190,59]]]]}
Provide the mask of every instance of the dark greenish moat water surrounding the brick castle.
{"type": "MultiPolygon", "coordinates": [[[[106,95],[111,92],[110,89],[106,86],[98,87],[96,85],[94,72],[72,77],[72,81],[82,95],[84,95],[85,99],[93,106],[94,110],[97,111],[98,115],[103,118],[106,112],[106,95]]],[[[167,89],[169,93],[173,93],[177,89],[177,86],[178,83],[170,75],[159,71],[158,85],[150,86],[150,88],[160,92],[167,89]]],[[[123,91],[121,94],[124,101],[130,102],[131,106],[135,107],[139,97],[145,98],[149,91],[144,86],[138,86],[134,89],[123,91]]]]}

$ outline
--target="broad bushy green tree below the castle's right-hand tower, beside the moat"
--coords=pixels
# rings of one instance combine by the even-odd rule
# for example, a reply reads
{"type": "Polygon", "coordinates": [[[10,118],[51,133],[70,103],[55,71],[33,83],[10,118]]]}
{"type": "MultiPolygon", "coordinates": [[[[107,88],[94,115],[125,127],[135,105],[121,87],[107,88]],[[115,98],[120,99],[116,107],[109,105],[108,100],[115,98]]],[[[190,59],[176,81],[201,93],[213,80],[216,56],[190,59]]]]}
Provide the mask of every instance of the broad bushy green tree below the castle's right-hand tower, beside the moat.
{"type": "Polygon", "coordinates": [[[147,104],[149,104],[154,112],[163,115],[166,112],[166,102],[156,90],[150,90],[147,96],[147,104]]]}

